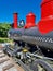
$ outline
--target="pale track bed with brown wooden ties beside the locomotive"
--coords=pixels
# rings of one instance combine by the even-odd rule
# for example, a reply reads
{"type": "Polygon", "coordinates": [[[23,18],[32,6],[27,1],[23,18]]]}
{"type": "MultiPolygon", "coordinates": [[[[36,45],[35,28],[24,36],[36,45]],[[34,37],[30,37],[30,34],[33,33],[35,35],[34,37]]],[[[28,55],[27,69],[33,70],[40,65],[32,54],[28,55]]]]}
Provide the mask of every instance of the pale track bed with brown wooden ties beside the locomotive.
{"type": "Polygon", "coordinates": [[[24,71],[0,49],[0,71],[24,71]]]}

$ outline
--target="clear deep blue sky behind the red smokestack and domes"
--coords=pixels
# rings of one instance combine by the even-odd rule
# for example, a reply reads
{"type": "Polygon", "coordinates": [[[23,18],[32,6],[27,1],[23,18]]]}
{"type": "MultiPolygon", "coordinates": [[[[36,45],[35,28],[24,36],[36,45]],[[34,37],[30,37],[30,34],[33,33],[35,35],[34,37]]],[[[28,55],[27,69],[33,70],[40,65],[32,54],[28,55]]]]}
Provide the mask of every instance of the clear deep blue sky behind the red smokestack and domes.
{"type": "Polygon", "coordinates": [[[0,0],[0,22],[13,23],[13,13],[18,13],[18,21],[25,20],[29,12],[36,15],[36,22],[41,17],[41,0],[0,0]]]}

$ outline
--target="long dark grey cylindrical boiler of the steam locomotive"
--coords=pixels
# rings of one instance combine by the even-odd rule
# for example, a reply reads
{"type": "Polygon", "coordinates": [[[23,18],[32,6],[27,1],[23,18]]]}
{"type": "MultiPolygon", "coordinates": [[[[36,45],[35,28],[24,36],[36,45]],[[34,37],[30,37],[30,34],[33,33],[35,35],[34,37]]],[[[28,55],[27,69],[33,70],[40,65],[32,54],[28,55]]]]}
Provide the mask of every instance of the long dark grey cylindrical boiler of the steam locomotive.
{"type": "Polygon", "coordinates": [[[10,29],[8,32],[8,36],[9,38],[12,38],[21,44],[22,46],[24,44],[35,45],[36,48],[38,46],[42,50],[42,52],[48,52],[48,55],[51,55],[51,52],[53,52],[53,32],[42,35],[39,32],[38,27],[30,27],[27,29],[17,28],[10,29]]]}

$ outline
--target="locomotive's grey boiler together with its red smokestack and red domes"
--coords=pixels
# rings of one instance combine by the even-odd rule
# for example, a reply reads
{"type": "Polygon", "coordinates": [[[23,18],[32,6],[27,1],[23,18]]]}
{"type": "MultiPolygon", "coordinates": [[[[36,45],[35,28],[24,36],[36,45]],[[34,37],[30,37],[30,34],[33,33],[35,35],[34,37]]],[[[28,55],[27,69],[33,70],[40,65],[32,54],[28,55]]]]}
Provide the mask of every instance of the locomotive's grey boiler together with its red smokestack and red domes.
{"type": "Polygon", "coordinates": [[[42,52],[53,54],[53,8],[51,3],[53,3],[52,0],[42,1],[41,20],[37,25],[35,24],[35,14],[29,13],[26,16],[26,25],[17,28],[17,14],[14,13],[14,27],[8,32],[8,37],[22,46],[34,45],[36,48],[39,47],[42,52]]]}

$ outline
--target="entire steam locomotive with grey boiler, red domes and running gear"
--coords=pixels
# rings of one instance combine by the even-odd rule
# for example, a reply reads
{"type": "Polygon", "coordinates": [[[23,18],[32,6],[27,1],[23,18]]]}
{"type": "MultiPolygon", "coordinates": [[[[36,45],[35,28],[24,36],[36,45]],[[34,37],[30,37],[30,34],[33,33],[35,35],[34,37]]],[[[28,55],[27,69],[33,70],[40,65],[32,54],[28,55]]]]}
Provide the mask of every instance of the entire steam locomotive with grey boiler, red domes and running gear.
{"type": "MultiPolygon", "coordinates": [[[[53,67],[51,68],[53,62],[53,0],[42,1],[41,20],[38,24],[35,23],[35,20],[36,15],[30,12],[26,15],[24,27],[18,28],[17,13],[14,13],[13,28],[8,32],[8,37],[14,40],[15,46],[13,49],[5,48],[4,52],[16,57],[25,71],[38,71],[38,64],[43,67],[45,71],[53,71],[53,67]],[[50,63],[49,60],[52,62],[50,63]],[[26,68],[22,62],[29,68],[26,68]],[[28,70],[30,68],[31,70],[28,70]]],[[[24,21],[19,23],[23,25],[24,21]]]]}

